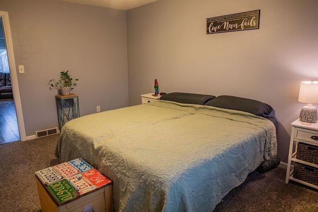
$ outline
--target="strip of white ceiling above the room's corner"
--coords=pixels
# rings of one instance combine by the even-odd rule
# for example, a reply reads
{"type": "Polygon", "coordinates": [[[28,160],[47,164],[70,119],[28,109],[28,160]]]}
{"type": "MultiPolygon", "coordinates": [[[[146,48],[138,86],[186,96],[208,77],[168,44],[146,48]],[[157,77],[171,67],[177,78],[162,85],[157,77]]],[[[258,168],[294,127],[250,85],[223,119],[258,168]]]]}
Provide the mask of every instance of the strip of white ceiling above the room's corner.
{"type": "Polygon", "coordinates": [[[157,0],[62,0],[62,1],[127,10],[127,9],[132,9],[144,4],[151,3],[157,0]]]}

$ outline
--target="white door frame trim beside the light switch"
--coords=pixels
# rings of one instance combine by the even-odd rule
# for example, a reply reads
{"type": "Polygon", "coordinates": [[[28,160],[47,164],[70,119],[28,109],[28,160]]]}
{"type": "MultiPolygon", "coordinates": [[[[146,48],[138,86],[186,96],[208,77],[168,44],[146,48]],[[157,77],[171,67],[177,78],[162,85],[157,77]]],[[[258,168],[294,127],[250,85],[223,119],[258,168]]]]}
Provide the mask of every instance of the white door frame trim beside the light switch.
{"type": "Polygon", "coordinates": [[[17,122],[19,126],[20,140],[26,141],[24,120],[23,120],[23,114],[22,114],[22,104],[21,104],[20,91],[18,86],[18,77],[16,73],[16,66],[15,66],[14,53],[13,53],[13,44],[12,44],[11,29],[10,29],[10,23],[9,23],[9,15],[5,11],[0,11],[0,17],[2,18],[2,21],[3,21],[3,31],[4,31],[4,37],[5,37],[8,62],[10,67],[11,84],[12,84],[14,105],[15,105],[15,111],[16,111],[16,118],[17,118],[17,122]]]}

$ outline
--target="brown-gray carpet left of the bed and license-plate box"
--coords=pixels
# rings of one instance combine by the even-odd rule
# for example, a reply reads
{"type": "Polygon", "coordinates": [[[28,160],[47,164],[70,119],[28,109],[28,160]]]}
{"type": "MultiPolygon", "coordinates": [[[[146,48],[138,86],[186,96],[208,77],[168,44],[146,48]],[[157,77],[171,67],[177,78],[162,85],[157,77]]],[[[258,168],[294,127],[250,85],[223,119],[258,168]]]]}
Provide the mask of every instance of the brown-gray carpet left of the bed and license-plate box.
{"type": "Polygon", "coordinates": [[[0,212],[39,212],[34,172],[59,164],[58,135],[0,145],[0,212]]]}

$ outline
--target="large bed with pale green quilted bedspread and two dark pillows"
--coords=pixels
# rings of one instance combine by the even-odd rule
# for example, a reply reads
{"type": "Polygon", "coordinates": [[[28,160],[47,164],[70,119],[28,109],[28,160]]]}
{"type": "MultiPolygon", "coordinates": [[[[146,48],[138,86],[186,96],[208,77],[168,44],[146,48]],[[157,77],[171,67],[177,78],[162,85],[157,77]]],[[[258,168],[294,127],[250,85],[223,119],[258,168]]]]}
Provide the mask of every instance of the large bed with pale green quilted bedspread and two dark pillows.
{"type": "Polygon", "coordinates": [[[115,211],[213,211],[277,154],[272,108],[233,96],[172,93],[74,119],[56,156],[113,180],[115,211]]]}

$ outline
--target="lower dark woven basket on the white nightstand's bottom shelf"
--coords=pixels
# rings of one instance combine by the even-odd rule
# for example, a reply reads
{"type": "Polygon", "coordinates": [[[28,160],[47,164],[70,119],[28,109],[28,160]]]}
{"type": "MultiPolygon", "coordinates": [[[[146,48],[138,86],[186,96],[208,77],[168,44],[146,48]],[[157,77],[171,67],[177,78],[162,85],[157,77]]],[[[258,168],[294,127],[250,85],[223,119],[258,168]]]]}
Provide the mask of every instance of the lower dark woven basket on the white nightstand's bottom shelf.
{"type": "Polygon", "coordinates": [[[295,162],[294,178],[318,186],[318,169],[295,162]]]}

